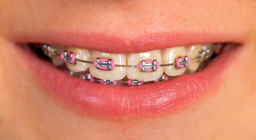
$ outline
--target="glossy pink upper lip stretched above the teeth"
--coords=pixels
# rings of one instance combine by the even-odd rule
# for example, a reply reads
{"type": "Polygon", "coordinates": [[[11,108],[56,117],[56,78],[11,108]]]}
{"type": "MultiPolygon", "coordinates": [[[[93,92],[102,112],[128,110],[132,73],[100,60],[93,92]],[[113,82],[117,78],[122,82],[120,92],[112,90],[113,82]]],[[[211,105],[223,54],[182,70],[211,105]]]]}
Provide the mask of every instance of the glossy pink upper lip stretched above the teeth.
{"type": "MultiPolygon", "coordinates": [[[[24,31],[26,32],[26,31],[24,31]]],[[[97,50],[105,53],[141,53],[151,50],[171,48],[185,45],[234,42],[240,43],[244,39],[241,33],[230,36],[229,32],[158,32],[143,34],[133,38],[117,37],[99,32],[63,31],[43,33],[23,33],[14,36],[16,42],[44,43],[49,45],[70,46],[83,49],[97,50]],[[126,38],[126,39],[125,39],[126,38]]],[[[17,33],[18,34],[18,33],[17,33]]]]}

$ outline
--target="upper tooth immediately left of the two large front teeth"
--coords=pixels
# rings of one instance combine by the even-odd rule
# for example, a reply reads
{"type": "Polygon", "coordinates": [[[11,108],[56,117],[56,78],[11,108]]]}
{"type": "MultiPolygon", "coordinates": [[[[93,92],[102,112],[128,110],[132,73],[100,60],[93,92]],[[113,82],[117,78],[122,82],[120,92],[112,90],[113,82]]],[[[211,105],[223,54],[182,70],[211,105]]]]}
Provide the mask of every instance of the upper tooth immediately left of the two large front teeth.
{"type": "MultiPolygon", "coordinates": [[[[76,59],[80,60],[87,60],[89,61],[91,58],[91,51],[87,49],[75,48],[75,47],[68,47],[67,51],[73,52],[76,54],[76,59]]],[[[76,61],[76,65],[66,63],[69,70],[72,72],[81,72],[88,68],[88,63],[78,62],[76,61]]]]}

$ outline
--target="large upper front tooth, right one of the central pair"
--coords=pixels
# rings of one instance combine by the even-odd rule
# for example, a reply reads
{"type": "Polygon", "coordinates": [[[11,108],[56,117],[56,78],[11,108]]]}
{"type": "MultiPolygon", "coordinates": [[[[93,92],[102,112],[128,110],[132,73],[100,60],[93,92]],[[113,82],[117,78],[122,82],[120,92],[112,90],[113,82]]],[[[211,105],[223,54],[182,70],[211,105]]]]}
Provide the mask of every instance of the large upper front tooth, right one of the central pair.
{"type": "MultiPolygon", "coordinates": [[[[142,60],[157,60],[159,64],[162,63],[160,50],[150,51],[146,53],[132,53],[128,55],[127,65],[139,65],[142,60]]],[[[163,75],[163,67],[159,67],[156,72],[140,72],[138,67],[127,68],[127,77],[129,79],[141,81],[154,81],[163,75]]]]}

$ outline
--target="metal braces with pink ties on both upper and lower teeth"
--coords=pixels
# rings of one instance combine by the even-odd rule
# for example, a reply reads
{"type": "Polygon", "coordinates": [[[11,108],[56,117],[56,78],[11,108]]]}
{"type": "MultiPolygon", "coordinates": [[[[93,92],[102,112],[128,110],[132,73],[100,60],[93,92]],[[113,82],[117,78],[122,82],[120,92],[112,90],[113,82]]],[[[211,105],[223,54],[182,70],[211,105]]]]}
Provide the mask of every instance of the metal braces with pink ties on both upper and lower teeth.
{"type": "MultiPolygon", "coordinates": [[[[188,67],[191,61],[199,61],[203,62],[210,58],[213,54],[206,46],[202,47],[202,51],[197,53],[197,57],[195,59],[189,59],[188,56],[181,56],[175,59],[175,63],[170,64],[159,64],[157,60],[142,60],[139,62],[139,65],[119,65],[115,64],[115,61],[112,59],[107,58],[97,58],[94,61],[87,61],[87,60],[80,60],[76,58],[76,54],[69,51],[64,51],[62,53],[57,53],[56,48],[54,46],[50,46],[47,44],[43,45],[43,51],[46,56],[52,58],[52,56],[59,56],[61,60],[65,63],[70,63],[76,65],[76,62],[88,63],[93,64],[99,70],[106,70],[112,71],[115,67],[138,67],[140,72],[155,72],[159,67],[166,67],[166,66],[174,66],[176,69],[180,69],[183,67],[188,67]]],[[[62,71],[68,73],[69,75],[73,75],[74,73],[68,69],[61,68],[62,71]]],[[[174,77],[168,77],[166,74],[163,74],[159,79],[154,81],[140,81],[140,80],[133,80],[128,79],[128,81],[116,81],[116,80],[103,80],[103,79],[95,79],[89,72],[85,72],[84,74],[80,74],[80,78],[86,81],[91,82],[99,82],[106,85],[116,85],[116,84],[128,84],[128,86],[137,86],[143,85],[145,83],[156,83],[160,81],[167,81],[170,79],[175,79],[174,77]]]]}

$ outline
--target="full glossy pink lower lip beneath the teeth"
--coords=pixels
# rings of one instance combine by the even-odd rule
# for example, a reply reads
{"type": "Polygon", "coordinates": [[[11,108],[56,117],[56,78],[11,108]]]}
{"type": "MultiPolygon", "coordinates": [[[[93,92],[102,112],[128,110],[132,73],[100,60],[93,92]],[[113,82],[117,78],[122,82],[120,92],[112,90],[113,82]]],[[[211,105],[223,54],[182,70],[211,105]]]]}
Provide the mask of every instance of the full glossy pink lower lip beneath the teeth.
{"type": "Polygon", "coordinates": [[[180,108],[189,101],[198,101],[196,99],[208,93],[209,88],[220,86],[221,74],[233,61],[230,57],[233,51],[226,51],[196,74],[155,84],[124,87],[71,77],[36,55],[26,55],[28,52],[20,46],[14,47],[18,49],[14,54],[16,60],[25,63],[26,71],[33,74],[54,99],[69,103],[71,108],[103,117],[162,114],[180,108]]]}

